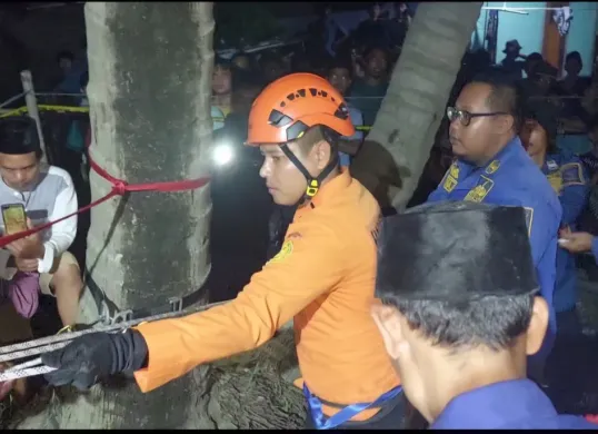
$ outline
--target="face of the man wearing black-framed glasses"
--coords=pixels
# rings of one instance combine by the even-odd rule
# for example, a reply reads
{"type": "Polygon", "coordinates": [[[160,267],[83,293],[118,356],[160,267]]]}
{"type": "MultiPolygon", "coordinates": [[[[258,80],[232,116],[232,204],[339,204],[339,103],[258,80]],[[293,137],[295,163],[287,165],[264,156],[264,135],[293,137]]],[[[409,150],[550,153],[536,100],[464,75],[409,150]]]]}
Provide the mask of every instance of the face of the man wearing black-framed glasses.
{"type": "Polygon", "coordinates": [[[455,102],[455,117],[450,120],[449,139],[452,154],[469,162],[485,161],[496,138],[512,128],[509,115],[494,115],[488,106],[491,88],[486,83],[467,85],[455,102]]]}

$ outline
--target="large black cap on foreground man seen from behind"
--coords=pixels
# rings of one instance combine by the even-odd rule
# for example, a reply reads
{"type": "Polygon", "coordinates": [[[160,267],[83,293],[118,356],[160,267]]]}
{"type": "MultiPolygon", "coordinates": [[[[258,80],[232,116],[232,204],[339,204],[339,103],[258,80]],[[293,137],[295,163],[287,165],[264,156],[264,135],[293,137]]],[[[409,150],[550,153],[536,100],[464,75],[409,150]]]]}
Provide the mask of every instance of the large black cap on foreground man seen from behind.
{"type": "Polygon", "coordinates": [[[385,219],[379,235],[379,298],[468,302],[538,290],[521,207],[425,204],[385,219]]]}

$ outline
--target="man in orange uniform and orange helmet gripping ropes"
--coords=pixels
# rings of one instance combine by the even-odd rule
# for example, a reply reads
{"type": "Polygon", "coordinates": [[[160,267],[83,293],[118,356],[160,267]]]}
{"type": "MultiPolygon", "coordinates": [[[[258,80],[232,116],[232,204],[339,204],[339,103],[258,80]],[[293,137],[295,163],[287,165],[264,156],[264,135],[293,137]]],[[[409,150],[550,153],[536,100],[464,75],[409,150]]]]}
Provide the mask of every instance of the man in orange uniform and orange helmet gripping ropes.
{"type": "Polygon", "coordinates": [[[199,364],[256,348],[295,319],[308,427],[398,428],[399,379],[370,316],[376,278],[376,199],[338,164],[337,140],[355,132],[325,79],[286,76],[256,99],[248,145],[277,204],[300,206],[280,253],[236,299],[207,312],[93,334],[42,356],[54,385],[89,387],[133,371],[143,392],[199,364]]]}

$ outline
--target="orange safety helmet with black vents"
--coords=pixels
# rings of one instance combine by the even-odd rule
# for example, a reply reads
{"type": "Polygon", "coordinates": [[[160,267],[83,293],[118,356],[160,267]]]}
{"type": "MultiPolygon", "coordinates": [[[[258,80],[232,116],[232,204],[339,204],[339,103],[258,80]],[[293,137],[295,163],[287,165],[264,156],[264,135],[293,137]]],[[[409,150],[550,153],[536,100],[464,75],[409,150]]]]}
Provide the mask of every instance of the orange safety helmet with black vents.
{"type": "Polygon", "coordinates": [[[253,101],[246,144],[286,144],[317,125],[340,136],[355,134],[347,103],[332,85],[313,73],[291,73],[273,81],[253,101]]]}

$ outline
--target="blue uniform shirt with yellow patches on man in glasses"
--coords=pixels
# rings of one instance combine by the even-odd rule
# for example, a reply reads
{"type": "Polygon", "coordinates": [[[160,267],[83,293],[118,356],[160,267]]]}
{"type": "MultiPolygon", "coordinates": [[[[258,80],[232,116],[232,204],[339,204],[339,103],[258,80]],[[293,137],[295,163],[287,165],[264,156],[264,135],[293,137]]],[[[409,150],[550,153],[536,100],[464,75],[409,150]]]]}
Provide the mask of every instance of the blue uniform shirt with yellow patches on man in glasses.
{"type": "MultiPolygon", "coordinates": [[[[557,239],[562,209],[546,176],[515,137],[485,167],[465,161],[450,166],[428,203],[470,200],[526,209],[530,231],[531,254],[538,274],[541,295],[550,307],[549,331],[537,355],[545,358],[551,349],[557,325],[552,295],[555,292],[557,239]]],[[[475,236],[475,228],[472,228],[475,236]]]]}

